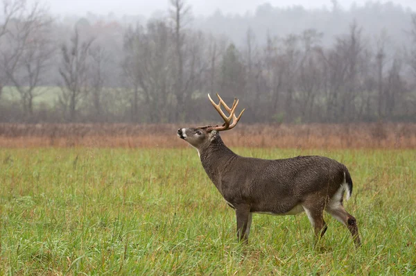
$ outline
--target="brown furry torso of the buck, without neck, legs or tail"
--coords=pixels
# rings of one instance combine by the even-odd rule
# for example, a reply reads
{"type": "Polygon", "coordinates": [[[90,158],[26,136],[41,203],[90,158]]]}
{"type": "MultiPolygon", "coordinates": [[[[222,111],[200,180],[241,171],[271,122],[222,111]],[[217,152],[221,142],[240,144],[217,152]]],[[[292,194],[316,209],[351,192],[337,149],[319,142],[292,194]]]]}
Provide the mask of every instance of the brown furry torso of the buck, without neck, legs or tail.
{"type": "Polygon", "coordinates": [[[331,197],[348,173],[345,165],[321,156],[275,160],[239,157],[233,165],[237,164],[239,169],[223,175],[221,193],[227,201],[247,202],[258,212],[288,212],[311,194],[331,197]],[[240,193],[235,192],[237,189],[240,193]],[[267,207],[262,206],[265,202],[267,207]],[[270,202],[276,202],[275,210],[266,210],[273,206],[270,202]]]}

